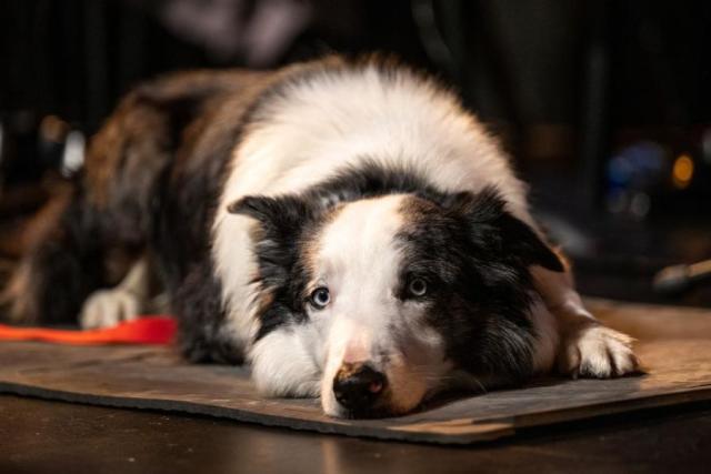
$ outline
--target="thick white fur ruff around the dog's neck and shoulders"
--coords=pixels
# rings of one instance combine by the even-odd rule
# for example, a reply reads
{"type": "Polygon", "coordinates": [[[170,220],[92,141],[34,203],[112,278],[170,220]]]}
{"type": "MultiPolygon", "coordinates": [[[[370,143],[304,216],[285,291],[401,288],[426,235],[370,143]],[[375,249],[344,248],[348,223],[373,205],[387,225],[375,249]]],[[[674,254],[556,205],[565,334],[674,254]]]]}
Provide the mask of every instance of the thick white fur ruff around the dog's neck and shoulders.
{"type": "MultiPolygon", "coordinates": [[[[304,190],[346,164],[404,164],[449,191],[499,186],[509,209],[533,225],[525,188],[454,95],[407,70],[377,67],[322,73],[291,85],[260,112],[236,149],[213,228],[213,259],[236,336],[257,330],[250,302],[257,272],[249,230],[227,206],[248,194],[304,190]]],[[[374,272],[371,272],[374,275],[374,272]]]]}

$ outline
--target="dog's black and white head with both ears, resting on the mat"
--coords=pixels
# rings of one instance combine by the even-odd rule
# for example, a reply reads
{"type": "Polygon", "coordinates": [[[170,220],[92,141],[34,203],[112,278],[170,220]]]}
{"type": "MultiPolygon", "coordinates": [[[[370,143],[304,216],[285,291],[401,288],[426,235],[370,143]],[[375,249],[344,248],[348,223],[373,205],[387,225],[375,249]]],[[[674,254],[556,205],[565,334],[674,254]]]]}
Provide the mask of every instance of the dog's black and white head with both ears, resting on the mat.
{"type": "Polygon", "coordinates": [[[260,223],[257,337],[304,329],[326,413],[401,414],[461,374],[531,373],[528,268],[562,268],[494,190],[326,201],[230,206],[260,223]]]}

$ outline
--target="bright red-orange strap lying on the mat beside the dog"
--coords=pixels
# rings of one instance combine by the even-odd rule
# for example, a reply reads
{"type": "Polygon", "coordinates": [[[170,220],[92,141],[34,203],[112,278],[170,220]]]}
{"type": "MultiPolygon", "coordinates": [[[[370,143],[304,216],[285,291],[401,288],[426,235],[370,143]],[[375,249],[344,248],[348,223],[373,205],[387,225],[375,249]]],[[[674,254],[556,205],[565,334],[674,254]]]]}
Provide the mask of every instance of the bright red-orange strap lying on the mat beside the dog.
{"type": "Polygon", "coordinates": [[[169,344],[176,331],[176,321],[167,316],[147,316],[124,321],[113,327],[84,331],[16,327],[0,324],[0,341],[42,341],[76,345],[169,344]]]}

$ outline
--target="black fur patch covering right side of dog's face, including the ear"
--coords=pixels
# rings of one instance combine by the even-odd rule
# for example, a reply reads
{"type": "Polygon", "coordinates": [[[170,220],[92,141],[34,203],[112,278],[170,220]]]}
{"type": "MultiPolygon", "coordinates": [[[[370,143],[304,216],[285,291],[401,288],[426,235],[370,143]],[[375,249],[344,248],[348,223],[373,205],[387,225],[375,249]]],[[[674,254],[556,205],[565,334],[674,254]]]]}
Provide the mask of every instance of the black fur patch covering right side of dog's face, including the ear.
{"type": "Polygon", "coordinates": [[[400,280],[407,297],[413,278],[432,289],[429,324],[445,340],[448,357],[472,374],[507,383],[530,376],[534,329],[528,316],[530,265],[561,271],[558,258],[504,209],[495,189],[448,198],[448,205],[412,203],[402,232],[400,280]]]}

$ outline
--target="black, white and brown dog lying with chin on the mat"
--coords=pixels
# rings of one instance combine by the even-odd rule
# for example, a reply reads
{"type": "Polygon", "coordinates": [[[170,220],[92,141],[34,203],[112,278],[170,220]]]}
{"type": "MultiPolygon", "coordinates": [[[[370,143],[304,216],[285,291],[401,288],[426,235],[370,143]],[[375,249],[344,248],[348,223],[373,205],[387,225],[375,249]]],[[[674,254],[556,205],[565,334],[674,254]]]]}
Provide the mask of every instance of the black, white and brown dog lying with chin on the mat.
{"type": "Polygon", "coordinates": [[[381,58],[194,71],[130,92],[19,264],[14,322],[116,324],[151,281],[193,362],[400,415],[448,389],[637,371],[455,94],[381,58]]]}

